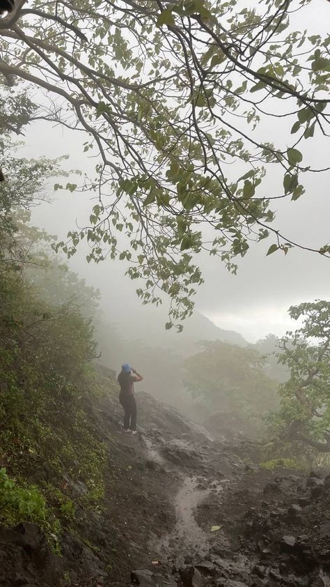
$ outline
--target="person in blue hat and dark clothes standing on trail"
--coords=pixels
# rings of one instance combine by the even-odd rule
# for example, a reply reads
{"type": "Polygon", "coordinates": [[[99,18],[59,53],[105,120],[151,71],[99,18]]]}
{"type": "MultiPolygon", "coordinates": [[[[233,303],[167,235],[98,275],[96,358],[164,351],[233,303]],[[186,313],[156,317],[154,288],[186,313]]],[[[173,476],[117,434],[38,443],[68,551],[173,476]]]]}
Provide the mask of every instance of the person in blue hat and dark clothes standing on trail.
{"type": "Polygon", "coordinates": [[[118,375],[120,385],[119,401],[125,411],[124,434],[136,434],[136,401],[134,397],[134,383],[142,381],[143,376],[124,363],[118,375]]]}

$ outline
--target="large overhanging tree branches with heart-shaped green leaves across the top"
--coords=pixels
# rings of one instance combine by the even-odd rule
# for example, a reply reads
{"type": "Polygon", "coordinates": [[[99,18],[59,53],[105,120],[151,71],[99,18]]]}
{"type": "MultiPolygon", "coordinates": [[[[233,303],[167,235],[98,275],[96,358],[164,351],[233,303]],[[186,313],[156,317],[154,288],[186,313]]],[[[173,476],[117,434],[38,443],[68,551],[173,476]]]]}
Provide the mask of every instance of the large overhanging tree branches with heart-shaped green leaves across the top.
{"type": "Polygon", "coordinates": [[[168,328],[191,313],[201,250],[235,271],[251,240],[271,232],[268,254],[297,244],[272,227],[271,202],[323,170],[304,160],[329,124],[329,39],[295,30],[310,1],[23,0],[1,20],[6,84],[43,89],[38,118],[100,153],[81,185],[99,198],[90,225],[57,247],[70,256],[86,238],[88,261],[123,259],[143,303],[170,296],[168,328]]]}

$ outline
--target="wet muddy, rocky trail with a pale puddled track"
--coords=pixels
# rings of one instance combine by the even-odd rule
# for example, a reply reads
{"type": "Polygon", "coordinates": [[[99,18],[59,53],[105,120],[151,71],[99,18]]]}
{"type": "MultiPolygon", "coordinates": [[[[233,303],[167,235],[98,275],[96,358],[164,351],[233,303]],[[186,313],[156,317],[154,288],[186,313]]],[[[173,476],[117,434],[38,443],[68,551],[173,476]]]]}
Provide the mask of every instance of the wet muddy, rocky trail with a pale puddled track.
{"type": "Polygon", "coordinates": [[[121,434],[116,398],[91,406],[109,444],[102,510],[77,512],[80,538],[63,535],[61,558],[33,524],[0,529],[1,587],[330,585],[327,471],[266,470],[237,434],[214,440],[138,401],[136,436],[121,434]]]}

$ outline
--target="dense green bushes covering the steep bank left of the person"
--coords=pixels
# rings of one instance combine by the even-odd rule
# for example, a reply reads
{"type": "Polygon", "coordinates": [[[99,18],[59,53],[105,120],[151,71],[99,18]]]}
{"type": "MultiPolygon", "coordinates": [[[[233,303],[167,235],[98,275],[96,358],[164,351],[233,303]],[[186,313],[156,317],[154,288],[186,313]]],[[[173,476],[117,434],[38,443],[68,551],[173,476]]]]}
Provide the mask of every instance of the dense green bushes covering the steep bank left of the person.
{"type": "Polygon", "coordinates": [[[23,243],[29,268],[0,258],[0,457],[13,494],[1,521],[42,522],[54,542],[79,504],[95,508],[104,494],[107,451],[88,416],[88,398],[99,387],[91,367],[95,342],[91,319],[81,314],[81,300],[91,314],[97,293],[42,250],[49,238],[26,218],[17,209],[15,234],[7,238],[23,243]],[[77,482],[82,496],[74,493],[77,482]]]}

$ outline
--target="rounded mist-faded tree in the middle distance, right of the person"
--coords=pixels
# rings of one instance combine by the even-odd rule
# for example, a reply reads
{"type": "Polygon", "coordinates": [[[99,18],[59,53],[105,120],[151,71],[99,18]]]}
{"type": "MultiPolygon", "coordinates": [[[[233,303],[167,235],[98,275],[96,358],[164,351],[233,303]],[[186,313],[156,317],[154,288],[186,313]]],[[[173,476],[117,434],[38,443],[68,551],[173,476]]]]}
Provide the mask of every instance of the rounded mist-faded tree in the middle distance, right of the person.
{"type": "Polygon", "coordinates": [[[224,342],[205,342],[200,353],[188,358],[185,384],[194,397],[203,397],[210,410],[236,413],[244,418],[276,406],[277,385],[262,371],[260,354],[224,342]]]}

